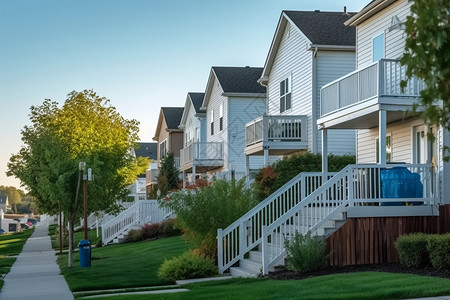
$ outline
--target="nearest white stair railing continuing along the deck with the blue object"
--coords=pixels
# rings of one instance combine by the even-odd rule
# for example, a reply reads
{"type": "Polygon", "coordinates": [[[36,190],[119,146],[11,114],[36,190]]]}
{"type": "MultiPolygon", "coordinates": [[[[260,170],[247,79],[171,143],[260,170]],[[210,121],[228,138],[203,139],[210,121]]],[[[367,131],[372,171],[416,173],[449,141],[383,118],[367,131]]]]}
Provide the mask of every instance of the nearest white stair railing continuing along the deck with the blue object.
{"type": "Polygon", "coordinates": [[[431,165],[349,165],[275,222],[262,224],[263,273],[285,255],[285,240],[296,232],[314,234],[347,206],[435,204],[436,199],[431,165]],[[402,172],[408,175],[396,178],[402,172]]]}

